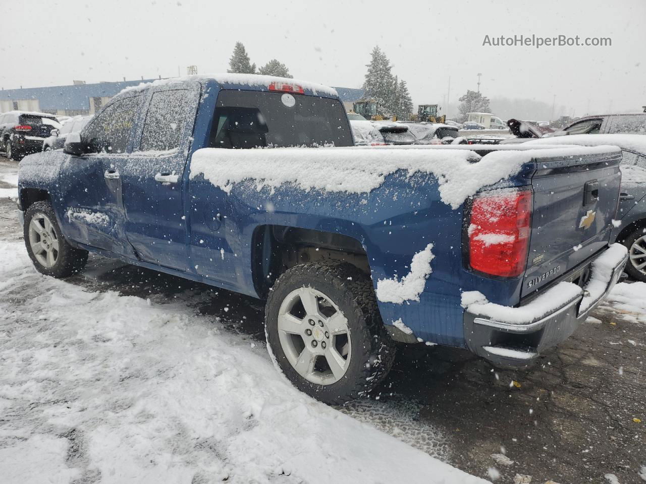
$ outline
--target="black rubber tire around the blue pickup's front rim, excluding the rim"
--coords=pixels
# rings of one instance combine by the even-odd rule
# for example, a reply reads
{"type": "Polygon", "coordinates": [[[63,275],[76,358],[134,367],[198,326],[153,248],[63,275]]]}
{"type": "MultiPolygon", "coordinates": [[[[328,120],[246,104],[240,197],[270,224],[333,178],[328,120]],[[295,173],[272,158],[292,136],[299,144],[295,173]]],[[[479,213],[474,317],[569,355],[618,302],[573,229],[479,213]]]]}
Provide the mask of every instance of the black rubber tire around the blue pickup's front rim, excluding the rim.
{"type": "MultiPolygon", "coordinates": [[[[63,277],[72,276],[83,270],[85,263],[87,263],[87,250],[81,250],[78,248],[72,247],[65,237],[61,233],[61,228],[58,226],[58,221],[56,219],[56,214],[54,214],[54,209],[48,201],[37,201],[32,203],[25,212],[25,225],[23,226],[23,234],[25,236],[25,247],[27,248],[27,253],[29,254],[34,267],[38,272],[45,274],[46,276],[57,277],[62,279],[63,277]],[[55,261],[50,266],[47,267],[43,265],[40,259],[47,258],[47,256],[37,257],[34,254],[34,249],[32,248],[32,243],[30,242],[30,224],[32,220],[36,218],[37,224],[40,223],[40,218],[45,216],[51,224],[52,234],[46,236],[45,241],[52,243],[52,241],[57,243],[58,250],[55,251],[55,261]]],[[[43,241],[43,237],[40,237],[40,241],[43,241]]]]}

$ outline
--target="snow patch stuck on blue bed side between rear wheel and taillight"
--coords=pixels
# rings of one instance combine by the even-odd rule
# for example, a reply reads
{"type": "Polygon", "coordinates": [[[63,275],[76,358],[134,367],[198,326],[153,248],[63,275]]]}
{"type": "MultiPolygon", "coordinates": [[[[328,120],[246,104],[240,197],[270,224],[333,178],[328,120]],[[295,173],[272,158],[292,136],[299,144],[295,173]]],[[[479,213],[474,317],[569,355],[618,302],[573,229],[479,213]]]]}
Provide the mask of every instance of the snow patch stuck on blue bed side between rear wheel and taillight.
{"type": "MultiPolygon", "coordinates": [[[[401,281],[397,280],[397,276],[393,279],[379,279],[377,291],[375,291],[377,299],[382,303],[395,304],[402,304],[404,301],[419,301],[419,295],[422,294],[426,285],[426,278],[433,272],[431,261],[435,256],[431,252],[432,248],[433,244],[428,244],[424,250],[413,256],[410,272],[407,276],[402,277],[401,281]]],[[[401,322],[401,319],[399,321],[401,322]]]]}

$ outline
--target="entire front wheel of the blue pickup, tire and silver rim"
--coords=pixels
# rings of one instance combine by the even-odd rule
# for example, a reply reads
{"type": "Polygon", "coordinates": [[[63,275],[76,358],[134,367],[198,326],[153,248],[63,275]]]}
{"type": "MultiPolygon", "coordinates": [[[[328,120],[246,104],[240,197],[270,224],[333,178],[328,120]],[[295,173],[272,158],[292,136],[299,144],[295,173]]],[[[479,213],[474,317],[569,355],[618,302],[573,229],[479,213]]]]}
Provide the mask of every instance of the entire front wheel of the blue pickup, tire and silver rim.
{"type": "Polygon", "coordinates": [[[48,201],[38,201],[25,212],[25,245],[38,272],[52,277],[68,277],[87,263],[87,250],[72,247],[58,227],[48,201]]]}

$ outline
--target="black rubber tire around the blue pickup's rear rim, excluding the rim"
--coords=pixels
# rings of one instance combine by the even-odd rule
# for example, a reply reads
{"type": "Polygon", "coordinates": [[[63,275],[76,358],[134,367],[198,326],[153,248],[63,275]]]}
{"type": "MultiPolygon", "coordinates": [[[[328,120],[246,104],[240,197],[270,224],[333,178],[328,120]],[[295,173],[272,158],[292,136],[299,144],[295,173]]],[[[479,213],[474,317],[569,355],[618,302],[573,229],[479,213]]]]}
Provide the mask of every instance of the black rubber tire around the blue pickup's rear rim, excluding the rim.
{"type": "MultiPolygon", "coordinates": [[[[388,374],[395,359],[396,347],[384,329],[371,280],[349,263],[318,261],[284,272],[269,293],[265,323],[269,352],[287,379],[302,392],[331,405],[343,405],[370,392],[388,374]],[[333,383],[313,383],[301,376],[282,347],[278,334],[280,307],[299,288],[327,296],[348,322],[351,356],[345,374],[333,383]]],[[[332,339],[328,341],[328,345],[335,344],[332,339]]]]}

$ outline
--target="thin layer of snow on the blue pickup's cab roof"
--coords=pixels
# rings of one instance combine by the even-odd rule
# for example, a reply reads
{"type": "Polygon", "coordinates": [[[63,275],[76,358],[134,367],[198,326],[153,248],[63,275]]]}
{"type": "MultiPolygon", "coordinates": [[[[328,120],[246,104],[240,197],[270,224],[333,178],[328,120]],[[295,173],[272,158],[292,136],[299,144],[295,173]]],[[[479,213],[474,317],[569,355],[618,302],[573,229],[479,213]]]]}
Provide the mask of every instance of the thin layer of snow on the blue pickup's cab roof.
{"type": "Polygon", "coordinates": [[[198,81],[215,81],[223,88],[236,88],[238,86],[253,86],[263,87],[269,89],[269,85],[276,84],[289,84],[301,86],[304,90],[311,91],[312,94],[318,96],[323,94],[325,96],[338,97],[337,90],[334,88],[324,86],[322,84],[310,83],[308,81],[300,81],[299,79],[289,79],[287,77],[275,76],[262,76],[260,74],[194,74],[193,76],[183,77],[170,77],[169,79],[157,79],[152,83],[140,83],[137,86],[130,86],[123,90],[123,92],[132,92],[133,90],[143,90],[152,86],[167,86],[175,83],[185,82],[198,82],[198,81]]]}

